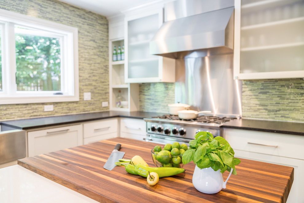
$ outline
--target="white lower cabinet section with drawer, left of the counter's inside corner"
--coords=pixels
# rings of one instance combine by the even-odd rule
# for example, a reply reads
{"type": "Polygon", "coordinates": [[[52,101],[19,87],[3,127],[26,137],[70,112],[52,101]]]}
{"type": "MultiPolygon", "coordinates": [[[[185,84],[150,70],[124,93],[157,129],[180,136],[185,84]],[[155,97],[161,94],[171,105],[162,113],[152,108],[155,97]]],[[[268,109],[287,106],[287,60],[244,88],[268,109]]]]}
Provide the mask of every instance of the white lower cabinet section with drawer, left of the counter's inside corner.
{"type": "Polygon", "coordinates": [[[117,132],[117,118],[84,123],[84,145],[117,137],[117,132]]]}

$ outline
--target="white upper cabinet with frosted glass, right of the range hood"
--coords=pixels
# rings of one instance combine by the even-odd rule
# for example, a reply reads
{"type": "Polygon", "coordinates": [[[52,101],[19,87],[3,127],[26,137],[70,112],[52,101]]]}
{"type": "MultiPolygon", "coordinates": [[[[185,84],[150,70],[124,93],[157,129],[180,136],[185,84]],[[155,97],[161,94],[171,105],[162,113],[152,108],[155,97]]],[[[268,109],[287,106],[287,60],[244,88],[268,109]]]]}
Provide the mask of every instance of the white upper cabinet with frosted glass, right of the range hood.
{"type": "Polygon", "coordinates": [[[304,78],[303,0],[235,0],[234,78],[304,78]]]}

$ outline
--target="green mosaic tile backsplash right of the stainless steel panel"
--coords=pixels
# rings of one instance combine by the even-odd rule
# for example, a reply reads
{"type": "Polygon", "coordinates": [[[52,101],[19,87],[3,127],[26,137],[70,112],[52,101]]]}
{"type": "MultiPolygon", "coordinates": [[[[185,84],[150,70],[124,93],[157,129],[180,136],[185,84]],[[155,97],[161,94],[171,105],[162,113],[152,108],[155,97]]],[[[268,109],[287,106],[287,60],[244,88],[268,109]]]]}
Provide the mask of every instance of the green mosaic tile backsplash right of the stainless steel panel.
{"type": "Polygon", "coordinates": [[[243,117],[304,122],[304,80],[245,80],[243,117]]]}

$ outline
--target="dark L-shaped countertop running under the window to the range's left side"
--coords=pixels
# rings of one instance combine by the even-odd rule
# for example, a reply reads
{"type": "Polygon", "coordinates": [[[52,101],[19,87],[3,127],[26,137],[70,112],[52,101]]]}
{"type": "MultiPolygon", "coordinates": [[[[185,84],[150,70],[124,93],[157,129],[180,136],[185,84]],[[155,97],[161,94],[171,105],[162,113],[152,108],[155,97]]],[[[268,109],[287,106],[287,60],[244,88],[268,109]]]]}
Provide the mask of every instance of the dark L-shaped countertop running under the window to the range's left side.
{"type": "Polygon", "coordinates": [[[164,113],[143,112],[143,111],[132,111],[132,112],[103,111],[96,113],[80,113],[80,114],[72,114],[72,115],[2,121],[0,122],[0,124],[17,129],[33,129],[33,128],[48,127],[53,125],[63,125],[69,123],[93,121],[93,120],[100,120],[100,119],[114,118],[114,117],[143,119],[145,117],[159,116],[163,114],[164,113]]]}

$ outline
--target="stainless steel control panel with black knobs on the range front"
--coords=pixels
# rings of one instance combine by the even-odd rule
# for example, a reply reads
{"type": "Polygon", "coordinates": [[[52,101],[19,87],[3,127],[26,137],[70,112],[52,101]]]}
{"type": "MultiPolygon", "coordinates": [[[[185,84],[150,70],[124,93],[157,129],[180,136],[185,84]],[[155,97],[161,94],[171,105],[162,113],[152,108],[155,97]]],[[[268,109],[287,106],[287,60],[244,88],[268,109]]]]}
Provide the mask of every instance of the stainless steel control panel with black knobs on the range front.
{"type": "Polygon", "coordinates": [[[213,136],[220,136],[220,128],[210,129],[209,126],[192,126],[182,124],[170,124],[170,123],[158,123],[158,122],[146,122],[147,133],[166,135],[172,137],[182,137],[188,139],[194,139],[194,135],[200,131],[208,131],[213,136]]]}

